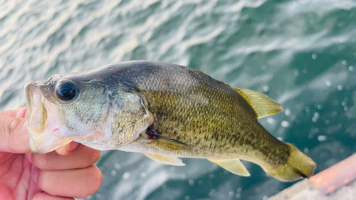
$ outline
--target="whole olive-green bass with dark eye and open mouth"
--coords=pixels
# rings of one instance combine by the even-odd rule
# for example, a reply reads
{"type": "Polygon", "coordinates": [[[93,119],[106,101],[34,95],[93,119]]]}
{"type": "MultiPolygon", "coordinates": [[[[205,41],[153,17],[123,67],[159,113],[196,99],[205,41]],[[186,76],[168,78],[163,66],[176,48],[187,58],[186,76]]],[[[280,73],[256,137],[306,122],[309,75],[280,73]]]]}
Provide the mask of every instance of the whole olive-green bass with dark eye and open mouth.
{"type": "Polygon", "coordinates": [[[184,165],[179,158],[208,159],[248,177],[242,159],[280,181],[310,177],[316,166],[259,124],[281,105],[194,68],[133,60],[31,81],[24,90],[35,154],[75,141],[174,166],[184,165]]]}

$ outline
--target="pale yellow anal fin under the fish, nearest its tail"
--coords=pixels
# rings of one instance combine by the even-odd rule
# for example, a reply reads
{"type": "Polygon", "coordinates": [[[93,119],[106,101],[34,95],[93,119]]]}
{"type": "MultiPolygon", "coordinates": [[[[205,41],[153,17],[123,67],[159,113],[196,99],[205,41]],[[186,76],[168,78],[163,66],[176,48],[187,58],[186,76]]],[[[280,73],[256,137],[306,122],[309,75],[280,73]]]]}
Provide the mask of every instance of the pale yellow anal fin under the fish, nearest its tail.
{"type": "Polygon", "coordinates": [[[249,177],[246,167],[240,159],[208,159],[210,162],[214,162],[220,167],[226,169],[227,171],[244,177],[249,177]]]}

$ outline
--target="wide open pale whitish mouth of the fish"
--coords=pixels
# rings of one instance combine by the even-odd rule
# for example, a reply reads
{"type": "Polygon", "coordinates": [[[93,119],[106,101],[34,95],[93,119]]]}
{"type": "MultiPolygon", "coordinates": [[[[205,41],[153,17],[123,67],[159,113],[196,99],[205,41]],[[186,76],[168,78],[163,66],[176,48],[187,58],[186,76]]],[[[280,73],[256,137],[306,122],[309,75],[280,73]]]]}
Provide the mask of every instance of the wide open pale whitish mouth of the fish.
{"type": "Polygon", "coordinates": [[[27,130],[30,133],[30,150],[44,154],[71,142],[61,137],[61,120],[58,107],[47,100],[39,87],[40,83],[31,81],[25,85],[28,115],[27,130]]]}

